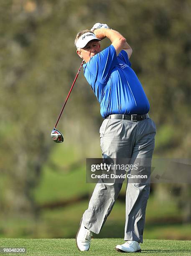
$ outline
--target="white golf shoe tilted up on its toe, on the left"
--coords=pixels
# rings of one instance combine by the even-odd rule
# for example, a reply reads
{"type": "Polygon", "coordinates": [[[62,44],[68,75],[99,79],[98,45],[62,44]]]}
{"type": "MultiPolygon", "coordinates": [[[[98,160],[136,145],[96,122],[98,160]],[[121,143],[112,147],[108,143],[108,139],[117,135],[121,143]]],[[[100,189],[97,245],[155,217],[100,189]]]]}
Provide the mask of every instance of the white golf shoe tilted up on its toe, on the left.
{"type": "Polygon", "coordinates": [[[90,241],[92,237],[92,232],[85,228],[82,223],[82,218],[79,224],[79,230],[76,235],[76,246],[80,251],[88,251],[90,247],[90,241]]]}

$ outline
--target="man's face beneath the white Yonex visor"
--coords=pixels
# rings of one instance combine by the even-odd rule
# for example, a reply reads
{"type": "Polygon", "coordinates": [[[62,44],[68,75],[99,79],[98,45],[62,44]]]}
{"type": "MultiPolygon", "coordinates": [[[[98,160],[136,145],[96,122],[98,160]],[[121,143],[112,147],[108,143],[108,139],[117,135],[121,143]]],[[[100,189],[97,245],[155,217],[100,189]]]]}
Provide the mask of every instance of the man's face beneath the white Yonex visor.
{"type": "Polygon", "coordinates": [[[92,40],[87,43],[87,45],[82,49],[77,49],[77,54],[81,59],[88,62],[92,56],[101,51],[100,44],[98,40],[92,40]]]}

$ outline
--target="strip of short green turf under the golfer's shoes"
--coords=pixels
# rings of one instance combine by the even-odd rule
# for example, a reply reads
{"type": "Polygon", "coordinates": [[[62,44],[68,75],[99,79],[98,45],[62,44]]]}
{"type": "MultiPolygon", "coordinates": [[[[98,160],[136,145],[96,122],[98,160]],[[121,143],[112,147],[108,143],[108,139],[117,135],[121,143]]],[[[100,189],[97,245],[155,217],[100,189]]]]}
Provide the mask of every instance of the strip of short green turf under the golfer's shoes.
{"type": "MultiPolygon", "coordinates": [[[[92,239],[89,251],[81,252],[76,248],[75,239],[14,239],[0,238],[0,247],[25,247],[26,253],[11,253],[3,255],[42,255],[42,256],[78,256],[78,255],[94,255],[94,256],[114,256],[123,255],[115,251],[117,244],[122,244],[121,238],[103,238],[92,239]]],[[[190,256],[191,241],[175,241],[175,240],[150,240],[145,239],[141,244],[141,253],[144,256],[190,256]]],[[[0,254],[2,255],[2,254],[0,254]]],[[[140,255],[128,253],[128,255],[140,255]]]]}

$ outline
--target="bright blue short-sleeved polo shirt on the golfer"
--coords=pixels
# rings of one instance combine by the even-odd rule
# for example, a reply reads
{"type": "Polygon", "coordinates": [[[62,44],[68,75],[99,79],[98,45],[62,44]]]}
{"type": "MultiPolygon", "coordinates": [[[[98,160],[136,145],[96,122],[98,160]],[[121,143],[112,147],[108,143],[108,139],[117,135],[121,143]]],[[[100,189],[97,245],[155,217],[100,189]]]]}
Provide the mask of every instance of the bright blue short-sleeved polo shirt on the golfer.
{"type": "Polygon", "coordinates": [[[131,68],[126,51],[117,56],[110,45],[83,65],[84,76],[100,103],[103,118],[111,114],[146,114],[150,105],[131,68]]]}

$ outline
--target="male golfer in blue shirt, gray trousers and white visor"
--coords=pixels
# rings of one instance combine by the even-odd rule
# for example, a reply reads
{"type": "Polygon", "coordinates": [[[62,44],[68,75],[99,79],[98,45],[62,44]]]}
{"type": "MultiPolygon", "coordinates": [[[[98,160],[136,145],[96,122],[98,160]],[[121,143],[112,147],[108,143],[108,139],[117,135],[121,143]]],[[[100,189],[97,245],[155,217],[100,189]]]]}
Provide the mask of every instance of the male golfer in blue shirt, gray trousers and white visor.
{"type": "MultiPolygon", "coordinates": [[[[102,23],[96,23],[91,31],[80,31],[75,45],[77,54],[86,62],[84,76],[100,103],[104,118],[100,127],[103,158],[132,159],[131,164],[142,159],[143,166],[144,161],[147,162],[150,173],[156,128],[148,115],[148,99],[131,68],[131,47],[124,36],[102,23]],[[106,37],[111,45],[101,51],[100,41],[106,37]]],[[[140,169],[139,174],[144,171],[140,169]]],[[[89,250],[92,233],[98,234],[102,229],[121,187],[122,183],[97,183],[76,235],[80,251],[89,250]]],[[[117,245],[117,251],[141,251],[149,192],[149,182],[127,181],[125,243],[117,245]]]]}

